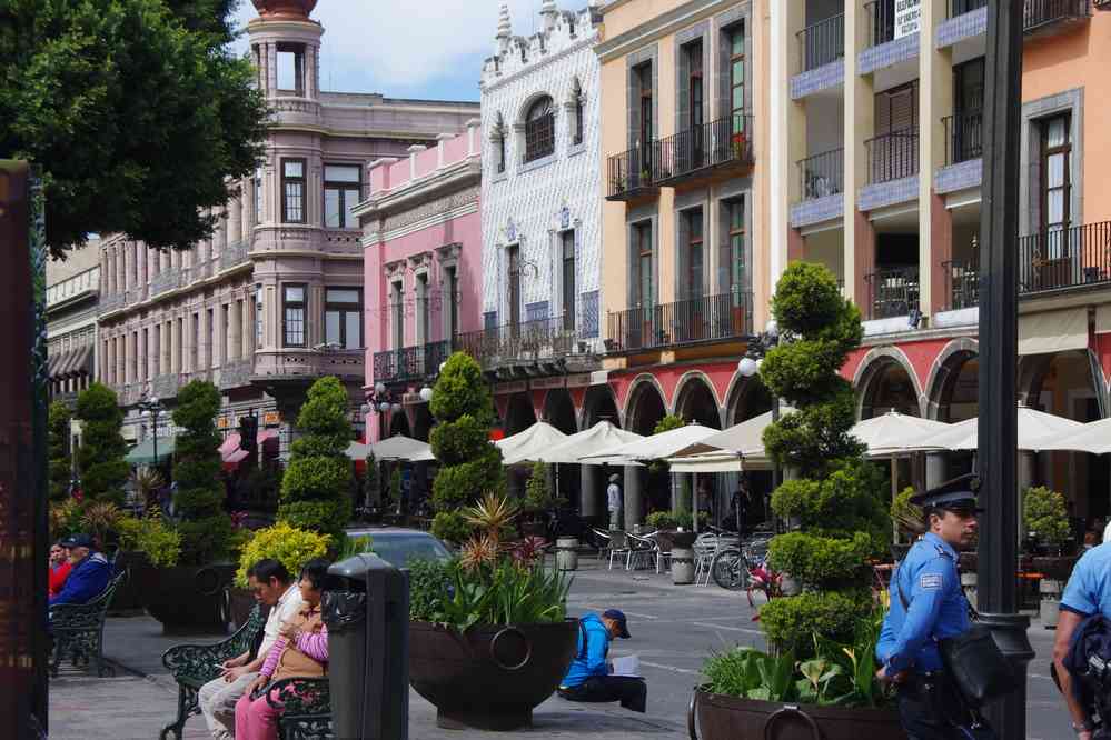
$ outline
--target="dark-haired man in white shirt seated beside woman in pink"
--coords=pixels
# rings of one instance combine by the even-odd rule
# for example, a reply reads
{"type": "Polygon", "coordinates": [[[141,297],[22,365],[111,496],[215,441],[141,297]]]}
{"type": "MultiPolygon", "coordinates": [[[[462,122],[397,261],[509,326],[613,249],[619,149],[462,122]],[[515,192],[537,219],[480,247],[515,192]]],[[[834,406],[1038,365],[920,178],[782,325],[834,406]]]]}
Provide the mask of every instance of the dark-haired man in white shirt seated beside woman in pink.
{"type": "Polygon", "coordinates": [[[224,662],[224,674],[200,687],[197,703],[209,732],[217,740],[230,740],[236,729],[236,702],[258,678],[267,653],[278,640],[284,622],[292,622],[301,610],[301,593],[289,571],[277,560],[264,558],[247,571],[247,586],[255,600],[270,608],[258,652],[250,650],[224,662]]]}

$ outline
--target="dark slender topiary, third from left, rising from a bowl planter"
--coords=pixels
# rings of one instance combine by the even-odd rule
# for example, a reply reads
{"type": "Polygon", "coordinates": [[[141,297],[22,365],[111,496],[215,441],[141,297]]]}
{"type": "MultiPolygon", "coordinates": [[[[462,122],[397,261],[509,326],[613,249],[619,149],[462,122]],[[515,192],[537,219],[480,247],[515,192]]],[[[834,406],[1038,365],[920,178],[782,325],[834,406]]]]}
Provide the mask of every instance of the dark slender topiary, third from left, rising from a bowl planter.
{"type": "Polygon", "coordinates": [[[181,564],[201,566],[227,556],[231,518],[224,511],[220,483],[220,434],[216,416],[220,391],[194,380],[178,391],[173,423],[183,429],[175,440],[173,511],[181,534],[181,564]]]}

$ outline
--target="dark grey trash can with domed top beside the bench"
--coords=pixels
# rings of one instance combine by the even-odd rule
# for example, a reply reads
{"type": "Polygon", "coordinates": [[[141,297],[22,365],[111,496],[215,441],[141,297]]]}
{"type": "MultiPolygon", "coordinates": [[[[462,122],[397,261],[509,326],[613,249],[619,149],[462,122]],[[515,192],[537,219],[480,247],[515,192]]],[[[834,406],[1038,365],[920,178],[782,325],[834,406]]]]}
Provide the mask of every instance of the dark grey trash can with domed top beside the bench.
{"type": "Polygon", "coordinates": [[[331,723],[337,738],[408,740],[409,582],[375,554],[328,568],[331,723]]]}

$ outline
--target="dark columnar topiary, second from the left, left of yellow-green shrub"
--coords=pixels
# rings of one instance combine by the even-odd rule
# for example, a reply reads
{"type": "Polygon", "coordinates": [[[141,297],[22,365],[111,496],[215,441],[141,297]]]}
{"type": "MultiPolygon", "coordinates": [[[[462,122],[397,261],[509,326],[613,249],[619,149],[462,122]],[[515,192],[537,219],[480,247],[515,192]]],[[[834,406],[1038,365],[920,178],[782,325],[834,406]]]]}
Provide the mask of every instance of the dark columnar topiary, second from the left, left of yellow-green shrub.
{"type": "Polygon", "coordinates": [[[77,466],[81,489],[90,501],[123,503],[127,481],[127,442],[120,429],[123,411],[116,393],[101,383],[92,383],[77,397],[77,418],[81,420],[81,449],[77,466]]]}

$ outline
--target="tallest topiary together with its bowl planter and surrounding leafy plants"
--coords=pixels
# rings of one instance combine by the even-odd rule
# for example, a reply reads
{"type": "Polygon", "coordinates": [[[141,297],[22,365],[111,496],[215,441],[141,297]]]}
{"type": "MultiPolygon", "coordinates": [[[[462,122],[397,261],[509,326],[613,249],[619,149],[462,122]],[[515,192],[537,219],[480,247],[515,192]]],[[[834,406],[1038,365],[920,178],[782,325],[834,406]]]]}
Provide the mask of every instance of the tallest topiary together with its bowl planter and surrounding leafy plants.
{"type": "Polygon", "coordinates": [[[880,701],[865,699],[860,708],[845,709],[823,706],[820,686],[812,684],[804,699],[791,693],[802,696],[797,681],[784,688],[793,670],[813,676],[817,671],[809,661],[837,652],[823,646],[856,646],[850,648],[851,674],[860,677],[854,691],[879,696],[872,683],[874,642],[867,646],[862,636],[877,629],[867,561],[886,550],[891,519],[883,473],[864,459],[864,446],[849,433],[855,397],[840,374],[863,337],[860,310],[841,296],[826,268],[795,262],[778,281],[772,313],[781,341],[764,358],[762,379],[797,412],[771,424],[763,441],[775,464],[797,471],[772,496],[775,513],[797,527],[772,539],[768,563],[797,582],[801,592],[761,608],[761,627],[777,659],[774,670],[761,671],[767,678],[757,688],[767,692],[734,692],[725,701],[711,684],[696,690],[695,702],[712,707],[716,717],[696,713],[710,740],[784,737],[776,734],[792,722],[780,721],[784,714],[806,714],[813,734],[829,740],[849,733],[855,738],[861,731],[903,738],[897,714],[877,708],[880,701]],[[804,700],[813,703],[795,703],[804,700]]]}

